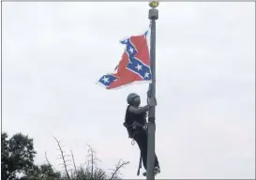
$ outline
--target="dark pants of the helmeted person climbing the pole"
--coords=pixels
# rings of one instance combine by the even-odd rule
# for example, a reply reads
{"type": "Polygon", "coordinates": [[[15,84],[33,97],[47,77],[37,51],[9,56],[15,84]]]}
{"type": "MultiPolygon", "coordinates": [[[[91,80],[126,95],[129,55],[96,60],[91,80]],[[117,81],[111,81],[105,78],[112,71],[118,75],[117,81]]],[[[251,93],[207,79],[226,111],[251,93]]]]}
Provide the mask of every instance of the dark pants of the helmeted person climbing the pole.
{"type": "MultiPolygon", "coordinates": [[[[146,170],[146,157],[147,157],[147,133],[145,130],[140,129],[137,131],[137,133],[135,132],[134,134],[134,140],[136,141],[136,143],[138,143],[140,150],[141,150],[141,155],[143,157],[143,166],[144,169],[146,170]]],[[[157,155],[155,153],[155,167],[159,167],[158,164],[158,158],[157,155]]]]}

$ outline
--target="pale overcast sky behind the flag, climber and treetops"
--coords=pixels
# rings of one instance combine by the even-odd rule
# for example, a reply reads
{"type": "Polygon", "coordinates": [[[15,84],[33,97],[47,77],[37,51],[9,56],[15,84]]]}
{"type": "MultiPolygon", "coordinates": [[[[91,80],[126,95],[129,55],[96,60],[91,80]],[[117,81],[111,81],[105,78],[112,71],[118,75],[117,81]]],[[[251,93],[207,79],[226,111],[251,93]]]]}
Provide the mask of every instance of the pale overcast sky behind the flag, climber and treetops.
{"type": "MultiPolygon", "coordinates": [[[[255,178],[254,3],[160,3],[157,21],[158,178],[255,178]]],[[[145,102],[147,84],[106,90],[123,37],[149,25],[143,3],[3,3],[3,131],[34,138],[61,163],[53,135],[77,164],[89,143],[113,168],[139,148],[123,127],[129,92],[145,102]]]]}

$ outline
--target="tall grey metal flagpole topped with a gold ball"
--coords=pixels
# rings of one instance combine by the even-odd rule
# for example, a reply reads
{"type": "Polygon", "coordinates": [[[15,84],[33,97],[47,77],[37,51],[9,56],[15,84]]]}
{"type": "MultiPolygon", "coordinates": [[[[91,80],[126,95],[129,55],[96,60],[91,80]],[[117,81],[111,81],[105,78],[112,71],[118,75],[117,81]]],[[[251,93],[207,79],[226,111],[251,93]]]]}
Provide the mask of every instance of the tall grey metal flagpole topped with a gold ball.
{"type": "MultiPolygon", "coordinates": [[[[151,36],[150,36],[150,67],[152,73],[151,83],[151,98],[156,98],[156,20],[158,20],[158,2],[152,1],[148,12],[148,19],[151,21],[151,36]]],[[[148,113],[148,139],[147,139],[147,164],[146,164],[146,179],[154,180],[155,168],[155,133],[156,133],[156,107],[152,106],[148,113]]]]}

